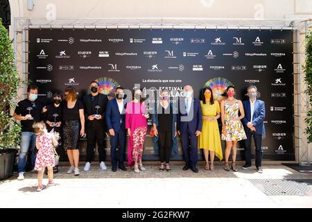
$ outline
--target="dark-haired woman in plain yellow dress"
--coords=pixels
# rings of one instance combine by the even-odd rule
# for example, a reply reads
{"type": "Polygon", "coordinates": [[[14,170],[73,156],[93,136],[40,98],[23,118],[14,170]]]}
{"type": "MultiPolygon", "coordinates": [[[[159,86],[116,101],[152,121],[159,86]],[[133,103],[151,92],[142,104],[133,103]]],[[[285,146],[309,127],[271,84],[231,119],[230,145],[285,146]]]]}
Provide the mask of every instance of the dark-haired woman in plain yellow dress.
{"type": "Polygon", "coordinates": [[[202,90],[202,133],[198,139],[198,147],[204,149],[206,160],[205,170],[214,170],[214,155],[219,160],[223,159],[220,133],[217,119],[220,117],[220,105],[214,101],[214,95],[210,87],[202,90]],[[210,166],[209,166],[210,151],[210,166]]]}

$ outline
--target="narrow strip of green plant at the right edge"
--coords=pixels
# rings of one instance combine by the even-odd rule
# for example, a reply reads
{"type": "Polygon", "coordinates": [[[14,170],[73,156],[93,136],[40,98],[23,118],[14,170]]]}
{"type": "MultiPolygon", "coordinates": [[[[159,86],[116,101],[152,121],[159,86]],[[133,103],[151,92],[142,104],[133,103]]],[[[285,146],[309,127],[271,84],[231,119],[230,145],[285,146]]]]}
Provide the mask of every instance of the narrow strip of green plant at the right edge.
{"type": "MultiPolygon", "coordinates": [[[[306,94],[309,97],[309,108],[306,113],[306,130],[308,143],[312,142],[312,32],[306,37],[306,65],[304,66],[304,71],[306,75],[304,76],[304,81],[306,82],[306,94]]],[[[308,102],[308,101],[307,101],[308,102]]]]}

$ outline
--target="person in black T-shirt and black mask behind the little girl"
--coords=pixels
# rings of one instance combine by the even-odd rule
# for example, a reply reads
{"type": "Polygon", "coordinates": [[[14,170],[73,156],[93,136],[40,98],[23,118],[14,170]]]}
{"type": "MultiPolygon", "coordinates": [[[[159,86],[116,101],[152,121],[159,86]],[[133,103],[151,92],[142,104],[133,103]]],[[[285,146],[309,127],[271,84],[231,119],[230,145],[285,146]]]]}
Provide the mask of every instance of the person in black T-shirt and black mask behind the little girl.
{"type": "MultiPolygon", "coordinates": [[[[53,94],[53,103],[50,105],[46,105],[43,108],[43,119],[46,123],[46,129],[48,132],[51,132],[52,130],[59,135],[62,135],[62,99],[61,94],[58,92],[55,92],[53,94]]],[[[61,138],[58,140],[58,149],[57,153],[60,153],[60,145],[62,144],[60,142],[61,138]]],[[[46,171],[47,173],[47,171],[46,171]]],[[[58,166],[53,167],[53,173],[58,173],[58,166]]]]}

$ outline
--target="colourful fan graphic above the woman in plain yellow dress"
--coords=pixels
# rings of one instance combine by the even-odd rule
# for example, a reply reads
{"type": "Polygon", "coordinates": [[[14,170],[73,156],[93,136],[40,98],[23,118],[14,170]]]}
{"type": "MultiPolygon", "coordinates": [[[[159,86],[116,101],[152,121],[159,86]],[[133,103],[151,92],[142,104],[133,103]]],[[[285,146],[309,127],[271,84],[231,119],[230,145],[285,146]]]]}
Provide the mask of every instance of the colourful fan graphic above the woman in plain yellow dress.
{"type": "Polygon", "coordinates": [[[221,77],[211,78],[205,83],[205,87],[210,87],[212,89],[214,99],[218,101],[223,99],[222,94],[229,85],[233,85],[233,83],[231,83],[230,80],[221,77]]]}

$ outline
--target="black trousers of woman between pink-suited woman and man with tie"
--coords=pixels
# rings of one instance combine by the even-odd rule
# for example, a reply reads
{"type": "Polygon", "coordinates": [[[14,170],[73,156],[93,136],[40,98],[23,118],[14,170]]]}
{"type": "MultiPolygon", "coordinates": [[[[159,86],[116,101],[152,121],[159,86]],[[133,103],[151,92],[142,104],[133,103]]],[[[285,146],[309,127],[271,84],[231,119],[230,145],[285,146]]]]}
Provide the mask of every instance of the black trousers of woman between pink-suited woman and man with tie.
{"type": "Polygon", "coordinates": [[[160,162],[165,162],[168,164],[171,156],[172,147],[172,132],[170,131],[158,131],[158,147],[160,162]]]}

